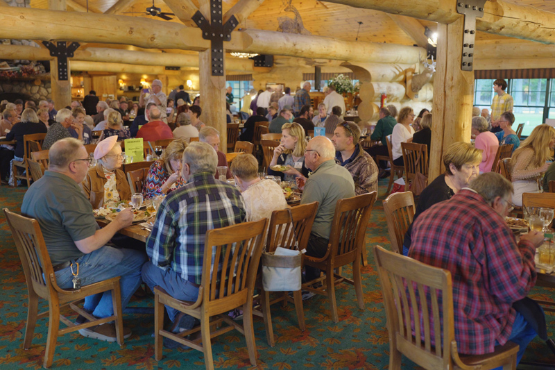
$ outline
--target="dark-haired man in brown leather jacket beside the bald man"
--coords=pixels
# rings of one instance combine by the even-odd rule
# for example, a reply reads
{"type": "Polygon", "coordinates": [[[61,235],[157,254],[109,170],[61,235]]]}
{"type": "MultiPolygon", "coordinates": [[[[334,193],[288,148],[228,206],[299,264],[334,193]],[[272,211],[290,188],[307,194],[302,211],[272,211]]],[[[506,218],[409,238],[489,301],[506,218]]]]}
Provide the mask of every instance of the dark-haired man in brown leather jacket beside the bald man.
{"type": "Polygon", "coordinates": [[[335,161],[348,169],[355,181],[357,195],[377,192],[377,166],[370,154],[359,144],[360,128],[355,122],[344,121],[337,125],[332,137],[335,161]]]}

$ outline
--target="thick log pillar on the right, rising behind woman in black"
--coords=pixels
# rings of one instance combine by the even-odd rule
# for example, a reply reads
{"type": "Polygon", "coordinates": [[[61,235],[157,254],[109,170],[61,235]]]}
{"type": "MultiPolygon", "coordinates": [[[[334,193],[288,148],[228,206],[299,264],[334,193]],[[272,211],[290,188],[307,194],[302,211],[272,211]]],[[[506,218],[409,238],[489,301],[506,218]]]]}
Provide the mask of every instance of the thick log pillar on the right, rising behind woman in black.
{"type": "Polygon", "coordinates": [[[450,144],[470,142],[474,72],[461,71],[463,25],[463,17],[451,24],[438,24],[428,183],[445,171],[442,158],[450,144]]]}

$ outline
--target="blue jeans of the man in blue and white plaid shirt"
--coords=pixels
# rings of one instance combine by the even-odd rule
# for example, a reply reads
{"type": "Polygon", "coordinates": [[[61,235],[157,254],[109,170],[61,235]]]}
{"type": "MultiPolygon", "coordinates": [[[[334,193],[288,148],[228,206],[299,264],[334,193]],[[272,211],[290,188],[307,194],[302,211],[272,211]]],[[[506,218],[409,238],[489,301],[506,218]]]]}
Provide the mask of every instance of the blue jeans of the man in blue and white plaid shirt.
{"type": "MultiPolygon", "coordinates": [[[[167,294],[180,301],[196,301],[198,298],[198,287],[183,279],[172,269],[161,269],[152,262],[146,262],[142,269],[142,278],[146,285],[154,291],[154,287],[161,287],[167,294]]],[[[171,322],[176,320],[179,311],[166,306],[171,322]]]]}

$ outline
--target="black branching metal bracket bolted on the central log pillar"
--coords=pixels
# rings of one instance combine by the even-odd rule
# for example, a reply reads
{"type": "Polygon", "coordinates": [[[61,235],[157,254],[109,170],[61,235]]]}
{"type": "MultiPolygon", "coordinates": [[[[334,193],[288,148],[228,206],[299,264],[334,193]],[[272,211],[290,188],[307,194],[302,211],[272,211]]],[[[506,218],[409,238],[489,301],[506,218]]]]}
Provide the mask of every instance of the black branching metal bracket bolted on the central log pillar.
{"type": "Polygon", "coordinates": [[[208,22],[203,13],[198,10],[192,17],[193,22],[203,31],[203,39],[210,40],[210,61],[212,62],[212,76],[224,76],[223,42],[231,41],[231,32],[239,25],[234,15],[228,22],[222,24],[221,0],[210,0],[210,19],[208,22]]]}

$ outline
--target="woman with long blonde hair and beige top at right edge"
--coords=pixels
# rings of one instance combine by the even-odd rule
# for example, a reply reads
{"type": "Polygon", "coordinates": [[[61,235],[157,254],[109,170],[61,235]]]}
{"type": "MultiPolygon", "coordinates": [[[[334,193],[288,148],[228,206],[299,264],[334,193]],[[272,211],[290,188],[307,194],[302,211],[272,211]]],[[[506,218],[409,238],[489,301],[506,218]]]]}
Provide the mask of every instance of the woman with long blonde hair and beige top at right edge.
{"type": "Polygon", "coordinates": [[[522,194],[540,192],[538,180],[549,164],[545,161],[555,147],[555,128],[542,124],[536,126],[511,157],[509,171],[515,192],[513,204],[522,206],[522,194]]]}

